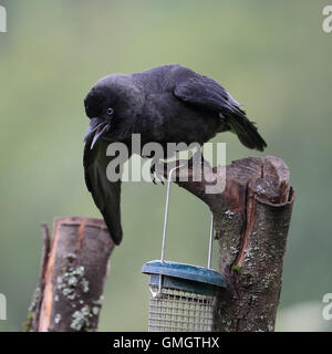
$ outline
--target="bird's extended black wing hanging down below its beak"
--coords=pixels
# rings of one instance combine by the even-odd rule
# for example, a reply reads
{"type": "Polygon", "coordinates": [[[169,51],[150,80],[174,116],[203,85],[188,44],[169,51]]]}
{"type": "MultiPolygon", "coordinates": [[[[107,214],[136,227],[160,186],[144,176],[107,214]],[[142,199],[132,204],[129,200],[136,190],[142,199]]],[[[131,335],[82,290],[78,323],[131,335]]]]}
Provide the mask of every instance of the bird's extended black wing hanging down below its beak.
{"type": "Polygon", "coordinates": [[[84,146],[84,177],[93,200],[101,210],[115,244],[122,241],[123,232],[121,226],[121,179],[110,181],[106,177],[106,168],[110,157],[106,156],[106,143],[102,139],[90,148],[90,142],[84,146]]]}

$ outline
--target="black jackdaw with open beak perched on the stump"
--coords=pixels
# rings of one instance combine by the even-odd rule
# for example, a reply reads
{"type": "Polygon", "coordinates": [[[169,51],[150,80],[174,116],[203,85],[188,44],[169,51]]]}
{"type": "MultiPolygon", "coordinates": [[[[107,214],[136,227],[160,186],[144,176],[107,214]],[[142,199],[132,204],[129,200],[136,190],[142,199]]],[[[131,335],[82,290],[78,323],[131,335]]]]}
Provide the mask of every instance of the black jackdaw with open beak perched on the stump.
{"type": "Polygon", "coordinates": [[[91,88],[84,105],[91,119],[83,157],[85,183],[116,244],[123,237],[121,180],[106,178],[111,142],[129,147],[132,134],[139,133],[142,144],[203,145],[217,133],[230,131],[248,148],[267,146],[241,105],[217,81],[181,65],[105,76],[91,88]]]}

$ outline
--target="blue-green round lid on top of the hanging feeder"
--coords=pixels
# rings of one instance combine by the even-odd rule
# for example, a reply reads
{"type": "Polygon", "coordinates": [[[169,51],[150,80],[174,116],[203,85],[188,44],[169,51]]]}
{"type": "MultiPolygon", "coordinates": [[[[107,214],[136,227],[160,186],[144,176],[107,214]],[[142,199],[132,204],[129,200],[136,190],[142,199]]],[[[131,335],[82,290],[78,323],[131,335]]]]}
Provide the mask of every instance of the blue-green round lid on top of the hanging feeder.
{"type": "Polygon", "coordinates": [[[217,271],[186,263],[155,260],[145,263],[142,272],[149,274],[149,285],[212,295],[218,288],[226,287],[226,279],[217,271]]]}

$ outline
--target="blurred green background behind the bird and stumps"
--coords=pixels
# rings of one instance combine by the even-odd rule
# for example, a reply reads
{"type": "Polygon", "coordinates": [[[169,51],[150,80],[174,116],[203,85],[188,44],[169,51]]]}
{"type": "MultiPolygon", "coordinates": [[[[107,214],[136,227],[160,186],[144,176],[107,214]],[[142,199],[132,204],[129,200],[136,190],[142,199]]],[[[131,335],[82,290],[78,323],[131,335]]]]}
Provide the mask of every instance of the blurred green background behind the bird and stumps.
{"type": "MultiPolygon", "coordinates": [[[[282,157],[297,199],[284,259],[279,331],[332,330],[321,316],[331,282],[332,33],[326,1],[0,1],[0,292],[21,331],[35,288],[42,221],[100,217],[85,189],[83,98],[103,75],[180,63],[246,104],[282,157]]],[[[227,160],[262,156],[231,134],[227,160]]],[[[159,257],[166,188],[123,187],[124,241],[112,257],[101,331],[145,331],[144,262],[159,257]]],[[[174,186],[167,258],[206,264],[209,211],[174,186]]],[[[215,252],[215,264],[216,264],[215,252]]]]}

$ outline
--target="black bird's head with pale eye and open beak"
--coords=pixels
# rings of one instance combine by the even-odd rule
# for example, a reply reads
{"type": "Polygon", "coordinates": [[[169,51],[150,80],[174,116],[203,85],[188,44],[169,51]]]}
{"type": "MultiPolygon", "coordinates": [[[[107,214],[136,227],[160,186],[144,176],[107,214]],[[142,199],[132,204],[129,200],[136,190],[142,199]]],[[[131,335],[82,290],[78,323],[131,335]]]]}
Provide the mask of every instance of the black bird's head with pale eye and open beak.
{"type": "Polygon", "coordinates": [[[85,113],[90,118],[90,125],[84,140],[91,142],[90,147],[102,137],[111,133],[124,123],[128,100],[128,76],[113,74],[97,81],[84,100],[85,113]]]}

